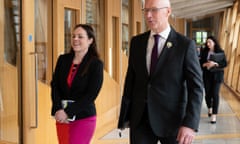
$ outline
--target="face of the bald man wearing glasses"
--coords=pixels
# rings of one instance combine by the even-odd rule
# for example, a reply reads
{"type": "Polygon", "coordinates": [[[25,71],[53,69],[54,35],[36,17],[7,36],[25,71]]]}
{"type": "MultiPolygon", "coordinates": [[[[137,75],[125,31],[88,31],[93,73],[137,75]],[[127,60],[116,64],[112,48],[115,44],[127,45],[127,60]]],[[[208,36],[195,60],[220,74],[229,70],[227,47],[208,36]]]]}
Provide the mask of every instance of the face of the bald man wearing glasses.
{"type": "Polygon", "coordinates": [[[148,27],[154,32],[161,32],[168,26],[171,8],[168,0],[146,0],[144,16],[148,27]]]}

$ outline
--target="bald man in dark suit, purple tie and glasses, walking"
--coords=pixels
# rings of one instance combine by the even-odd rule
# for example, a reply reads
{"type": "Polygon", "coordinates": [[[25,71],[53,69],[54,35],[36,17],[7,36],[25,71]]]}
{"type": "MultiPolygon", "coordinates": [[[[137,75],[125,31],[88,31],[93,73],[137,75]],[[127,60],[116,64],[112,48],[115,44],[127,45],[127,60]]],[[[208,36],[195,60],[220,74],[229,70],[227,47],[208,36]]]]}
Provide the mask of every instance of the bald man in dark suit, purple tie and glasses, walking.
{"type": "Polygon", "coordinates": [[[130,127],[131,144],[190,144],[203,97],[195,43],[170,26],[169,0],[145,0],[143,12],[150,31],[131,40],[118,128],[130,127]]]}

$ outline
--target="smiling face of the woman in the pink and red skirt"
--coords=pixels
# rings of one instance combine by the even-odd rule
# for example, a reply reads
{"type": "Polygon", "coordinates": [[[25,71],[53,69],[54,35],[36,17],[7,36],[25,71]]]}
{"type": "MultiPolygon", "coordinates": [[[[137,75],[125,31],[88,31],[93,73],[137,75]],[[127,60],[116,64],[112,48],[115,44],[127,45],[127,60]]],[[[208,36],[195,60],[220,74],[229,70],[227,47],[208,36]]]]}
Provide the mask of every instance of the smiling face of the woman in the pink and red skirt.
{"type": "Polygon", "coordinates": [[[74,52],[87,52],[92,41],[82,27],[76,28],[72,33],[71,45],[74,52]]]}

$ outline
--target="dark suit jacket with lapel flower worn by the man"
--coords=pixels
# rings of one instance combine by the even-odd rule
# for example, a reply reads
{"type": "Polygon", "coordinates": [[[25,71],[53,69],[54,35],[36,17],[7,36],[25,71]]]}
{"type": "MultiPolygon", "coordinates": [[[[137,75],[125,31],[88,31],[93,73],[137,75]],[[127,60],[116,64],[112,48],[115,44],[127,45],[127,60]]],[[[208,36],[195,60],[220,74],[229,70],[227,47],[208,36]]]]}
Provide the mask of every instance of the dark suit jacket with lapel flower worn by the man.
{"type": "Polygon", "coordinates": [[[145,106],[153,132],[176,135],[180,126],[198,129],[203,97],[202,71],[195,43],[173,28],[149,76],[146,49],[150,31],[131,40],[118,128],[138,126],[145,106]]]}

